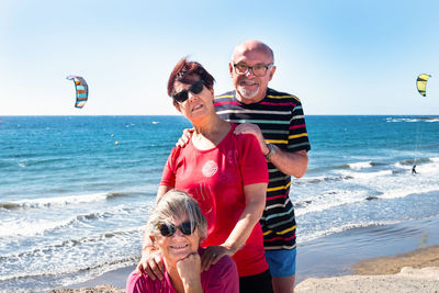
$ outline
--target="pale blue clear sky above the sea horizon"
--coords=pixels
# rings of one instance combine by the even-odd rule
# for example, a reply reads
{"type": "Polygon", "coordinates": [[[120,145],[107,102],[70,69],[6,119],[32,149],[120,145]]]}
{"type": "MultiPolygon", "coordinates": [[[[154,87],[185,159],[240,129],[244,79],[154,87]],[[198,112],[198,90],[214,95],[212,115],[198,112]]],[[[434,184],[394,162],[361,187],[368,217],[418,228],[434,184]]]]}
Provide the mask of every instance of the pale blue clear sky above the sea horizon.
{"type": "Polygon", "coordinates": [[[0,115],[178,114],[173,65],[200,61],[224,92],[233,48],[250,38],[273,48],[270,87],[301,98],[305,114],[439,114],[436,0],[0,3],[0,115]],[[71,74],[90,87],[81,110],[71,74]]]}

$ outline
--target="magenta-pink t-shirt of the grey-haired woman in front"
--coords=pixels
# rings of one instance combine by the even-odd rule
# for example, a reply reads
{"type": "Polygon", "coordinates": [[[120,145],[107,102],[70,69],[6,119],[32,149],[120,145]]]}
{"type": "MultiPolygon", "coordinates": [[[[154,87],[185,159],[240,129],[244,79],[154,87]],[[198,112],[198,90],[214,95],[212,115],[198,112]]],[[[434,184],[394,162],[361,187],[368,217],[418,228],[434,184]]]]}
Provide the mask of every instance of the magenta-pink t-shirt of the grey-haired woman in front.
{"type": "MultiPolygon", "coordinates": [[[[230,257],[224,256],[218,262],[212,264],[209,271],[201,273],[201,285],[203,292],[209,293],[238,293],[239,280],[235,262],[230,257]]],[[[138,277],[133,271],[126,280],[126,293],[162,292],[177,293],[165,268],[164,279],[153,281],[143,273],[138,277]]]]}

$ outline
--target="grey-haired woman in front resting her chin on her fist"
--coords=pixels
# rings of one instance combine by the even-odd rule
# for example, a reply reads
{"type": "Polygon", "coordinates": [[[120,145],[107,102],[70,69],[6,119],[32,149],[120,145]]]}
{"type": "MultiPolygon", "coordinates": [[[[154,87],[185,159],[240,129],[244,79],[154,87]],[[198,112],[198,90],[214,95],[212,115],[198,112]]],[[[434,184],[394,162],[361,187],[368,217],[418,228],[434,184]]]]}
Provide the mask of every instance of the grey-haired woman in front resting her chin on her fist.
{"type": "Polygon", "coordinates": [[[238,293],[238,272],[229,257],[223,257],[201,272],[199,248],[206,235],[206,219],[198,203],[185,192],[171,190],[151,211],[146,230],[165,263],[162,280],[133,272],[126,282],[127,293],[238,293]]]}

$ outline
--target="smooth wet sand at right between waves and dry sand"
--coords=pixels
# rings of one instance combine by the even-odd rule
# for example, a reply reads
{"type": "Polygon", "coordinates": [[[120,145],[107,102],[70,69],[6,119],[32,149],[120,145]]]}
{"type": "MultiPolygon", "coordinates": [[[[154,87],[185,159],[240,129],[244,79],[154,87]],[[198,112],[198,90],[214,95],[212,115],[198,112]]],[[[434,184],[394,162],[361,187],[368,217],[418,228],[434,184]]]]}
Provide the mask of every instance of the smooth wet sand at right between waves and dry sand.
{"type": "Polygon", "coordinates": [[[307,278],[356,274],[364,260],[439,245],[439,216],[331,234],[297,246],[296,284],[307,278]]]}

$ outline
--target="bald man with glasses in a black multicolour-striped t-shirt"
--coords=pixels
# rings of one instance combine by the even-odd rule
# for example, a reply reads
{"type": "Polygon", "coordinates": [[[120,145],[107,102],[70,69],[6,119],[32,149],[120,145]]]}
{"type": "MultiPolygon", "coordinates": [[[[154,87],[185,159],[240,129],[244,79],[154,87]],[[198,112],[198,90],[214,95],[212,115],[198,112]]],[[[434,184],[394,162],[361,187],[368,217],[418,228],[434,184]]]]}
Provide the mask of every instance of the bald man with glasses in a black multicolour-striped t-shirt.
{"type": "Polygon", "coordinates": [[[296,223],[289,193],[291,176],[301,178],[311,149],[299,98],[268,87],[275,72],[272,49],[260,41],[236,46],[229,71],[235,90],[215,98],[215,110],[240,124],[235,134],[257,137],[267,158],[270,182],[260,224],[275,293],[294,292],[296,223]]]}

